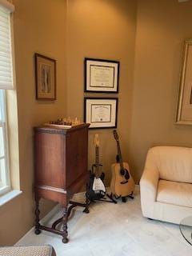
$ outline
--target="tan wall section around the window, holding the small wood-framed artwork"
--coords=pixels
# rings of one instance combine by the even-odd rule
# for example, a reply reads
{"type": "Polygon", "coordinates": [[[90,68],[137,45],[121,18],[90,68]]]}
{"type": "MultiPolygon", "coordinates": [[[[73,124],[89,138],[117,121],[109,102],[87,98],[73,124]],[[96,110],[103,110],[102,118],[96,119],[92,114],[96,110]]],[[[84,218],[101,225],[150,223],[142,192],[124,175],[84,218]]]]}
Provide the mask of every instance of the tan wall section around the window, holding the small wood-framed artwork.
{"type": "MultiPolygon", "coordinates": [[[[66,1],[13,2],[22,194],[1,206],[0,245],[18,241],[34,224],[33,127],[66,114],[66,1]],[[35,52],[57,60],[56,102],[35,100],[35,52]]],[[[50,204],[44,202],[43,212],[47,209],[50,209],[50,204]]]]}

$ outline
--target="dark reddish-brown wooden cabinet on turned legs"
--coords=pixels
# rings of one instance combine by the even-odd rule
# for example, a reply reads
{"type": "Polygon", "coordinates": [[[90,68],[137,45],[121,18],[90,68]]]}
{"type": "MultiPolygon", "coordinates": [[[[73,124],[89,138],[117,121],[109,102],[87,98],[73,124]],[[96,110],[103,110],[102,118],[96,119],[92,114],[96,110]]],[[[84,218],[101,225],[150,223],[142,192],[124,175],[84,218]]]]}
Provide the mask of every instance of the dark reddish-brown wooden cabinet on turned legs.
{"type": "MultiPolygon", "coordinates": [[[[88,178],[87,145],[89,124],[62,130],[52,127],[34,128],[34,190],[35,190],[35,233],[48,230],[61,234],[67,242],[67,206],[74,193],[79,192],[88,178]],[[64,206],[60,221],[63,230],[39,224],[38,202],[46,198],[64,206]]],[[[82,204],[78,204],[82,205],[82,204]]],[[[82,205],[85,206],[85,205],[82,205]]]]}

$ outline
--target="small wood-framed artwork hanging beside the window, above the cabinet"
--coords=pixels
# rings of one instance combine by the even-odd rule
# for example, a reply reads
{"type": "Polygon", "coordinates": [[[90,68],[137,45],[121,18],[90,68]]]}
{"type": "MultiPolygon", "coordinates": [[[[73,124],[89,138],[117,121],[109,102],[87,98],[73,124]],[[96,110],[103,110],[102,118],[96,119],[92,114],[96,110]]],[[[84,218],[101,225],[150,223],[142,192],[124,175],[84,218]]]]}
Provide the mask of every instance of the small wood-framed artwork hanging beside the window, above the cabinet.
{"type": "Polygon", "coordinates": [[[56,99],[56,61],[41,54],[34,54],[36,99],[56,99]]]}

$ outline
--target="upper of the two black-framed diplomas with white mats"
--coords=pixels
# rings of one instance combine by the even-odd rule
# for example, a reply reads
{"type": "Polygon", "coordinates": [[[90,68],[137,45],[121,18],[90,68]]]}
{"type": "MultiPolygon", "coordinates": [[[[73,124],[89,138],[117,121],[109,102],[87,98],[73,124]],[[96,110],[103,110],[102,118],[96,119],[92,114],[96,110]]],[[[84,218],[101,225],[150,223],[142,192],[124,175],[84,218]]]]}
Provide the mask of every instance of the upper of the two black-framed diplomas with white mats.
{"type": "Polygon", "coordinates": [[[118,93],[119,62],[85,58],[85,92],[118,93]]]}

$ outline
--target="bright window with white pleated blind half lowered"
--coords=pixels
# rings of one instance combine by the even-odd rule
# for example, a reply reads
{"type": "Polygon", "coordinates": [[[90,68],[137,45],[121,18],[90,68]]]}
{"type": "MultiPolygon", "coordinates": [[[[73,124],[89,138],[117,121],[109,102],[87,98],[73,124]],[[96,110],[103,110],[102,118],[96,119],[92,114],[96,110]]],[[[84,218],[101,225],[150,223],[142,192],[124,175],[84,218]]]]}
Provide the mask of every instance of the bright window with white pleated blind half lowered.
{"type": "Polygon", "coordinates": [[[0,1],[0,195],[10,190],[9,143],[6,119],[6,90],[13,90],[11,13],[14,6],[0,1]]]}

